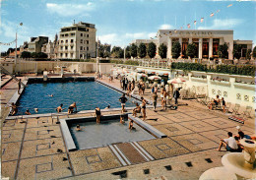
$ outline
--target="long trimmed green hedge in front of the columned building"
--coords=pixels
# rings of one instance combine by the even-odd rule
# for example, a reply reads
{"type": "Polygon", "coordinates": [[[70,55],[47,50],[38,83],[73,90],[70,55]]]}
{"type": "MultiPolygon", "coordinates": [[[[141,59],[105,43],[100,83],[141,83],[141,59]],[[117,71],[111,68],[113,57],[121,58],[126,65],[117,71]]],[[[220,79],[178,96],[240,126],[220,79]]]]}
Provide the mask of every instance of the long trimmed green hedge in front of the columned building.
{"type": "Polygon", "coordinates": [[[198,63],[171,63],[171,69],[185,71],[203,71],[213,73],[223,73],[231,75],[255,76],[255,66],[235,66],[235,65],[217,65],[216,67],[208,67],[207,65],[198,63]]]}

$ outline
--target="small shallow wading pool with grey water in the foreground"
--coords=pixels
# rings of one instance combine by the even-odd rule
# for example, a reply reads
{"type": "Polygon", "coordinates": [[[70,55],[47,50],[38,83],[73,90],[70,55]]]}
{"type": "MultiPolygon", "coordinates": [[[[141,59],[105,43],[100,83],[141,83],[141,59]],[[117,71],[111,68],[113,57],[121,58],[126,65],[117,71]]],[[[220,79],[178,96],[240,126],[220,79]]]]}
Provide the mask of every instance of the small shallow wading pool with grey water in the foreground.
{"type": "MultiPolygon", "coordinates": [[[[61,129],[68,150],[86,150],[106,147],[123,142],[138,142],[156,139],[136,123],[129,130],[128,115],[125,123],[120,123],[120,114],[101,116],[100,124],[95,117],[60,119],[61,129]],[[81,131],[77,131],[80,125],[81,131]]],[[[154,131],[151,132],[154,134],[154,131]]]]}

